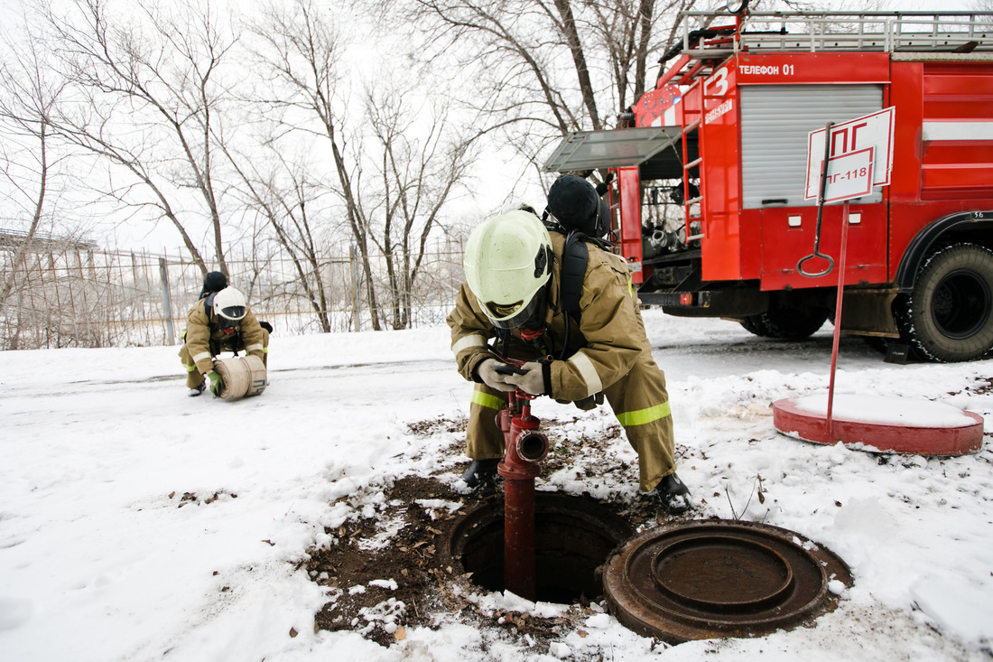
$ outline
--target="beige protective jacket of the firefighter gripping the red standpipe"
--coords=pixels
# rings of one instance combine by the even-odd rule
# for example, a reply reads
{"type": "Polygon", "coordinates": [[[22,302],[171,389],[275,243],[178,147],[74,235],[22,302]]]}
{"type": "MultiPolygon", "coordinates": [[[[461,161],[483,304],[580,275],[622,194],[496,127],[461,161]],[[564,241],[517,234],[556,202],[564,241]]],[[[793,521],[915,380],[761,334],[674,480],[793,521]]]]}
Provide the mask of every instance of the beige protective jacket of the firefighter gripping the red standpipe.
{"type": "MultiPolygon", "coordinates": [[[[555,360],[551,363],[548,395],[559,401],[578,401],[604,391],[628,375],[647,343],[628,264],[619,255],[588,245],[589,259],[580,297],[581,321],[577,325],[574,319],[569,320],[569,347],[563,347],[566,314],[559,301],[559,278],[565,237],[551,233],[551,240],[554,259],[544,337],[545,349],[555,360]]],[[[466,283],[448,324],[459,372],[467,380],[479,382],[476,369],[485,359],[493,358],[487,343],[496,336],[496,330],[466,283]]],[[[543,353],[520,340],[516,329],[511,334],[512,358],[531,360],[543,353]]]]}

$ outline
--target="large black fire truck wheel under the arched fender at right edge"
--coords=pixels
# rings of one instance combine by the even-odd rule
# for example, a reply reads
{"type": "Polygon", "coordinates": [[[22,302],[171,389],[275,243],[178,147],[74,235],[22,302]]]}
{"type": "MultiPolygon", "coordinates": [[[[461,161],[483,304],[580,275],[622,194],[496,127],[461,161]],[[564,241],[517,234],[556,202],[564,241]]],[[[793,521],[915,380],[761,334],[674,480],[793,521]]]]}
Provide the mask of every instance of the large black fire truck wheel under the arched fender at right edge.
{"type": "Polygon", "coordinates": [[[993,251],[956,244],[931,253],[896,320],[905,339],[932,361],[981,358],[993,349],[993,251]]]}

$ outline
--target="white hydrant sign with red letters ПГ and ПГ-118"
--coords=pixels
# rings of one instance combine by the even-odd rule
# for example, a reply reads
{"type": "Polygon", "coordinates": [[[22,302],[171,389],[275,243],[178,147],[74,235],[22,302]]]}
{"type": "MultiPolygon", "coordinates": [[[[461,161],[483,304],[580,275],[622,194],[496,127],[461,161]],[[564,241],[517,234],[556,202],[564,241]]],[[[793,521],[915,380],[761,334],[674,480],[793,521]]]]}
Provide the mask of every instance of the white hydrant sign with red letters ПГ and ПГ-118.
{"type": "Polygon", "coordinates": [[[830,140],[824,202],[868,195],[874,186],[888,186],[893,171],[894,107],[811,131],[807,139],[805,200],[820,195],[824,140],[830,140]]]}

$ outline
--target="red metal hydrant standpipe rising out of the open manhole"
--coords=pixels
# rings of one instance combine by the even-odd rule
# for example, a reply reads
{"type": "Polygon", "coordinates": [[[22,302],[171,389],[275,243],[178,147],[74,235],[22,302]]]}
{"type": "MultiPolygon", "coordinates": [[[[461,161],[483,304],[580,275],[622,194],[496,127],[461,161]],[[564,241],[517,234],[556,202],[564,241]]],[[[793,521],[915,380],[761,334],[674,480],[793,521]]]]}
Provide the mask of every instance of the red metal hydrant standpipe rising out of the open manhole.
{"type": "Polygon", "coordinates": [[[523,598],[537,594],[534,554],[534,479],[548,453],[541,421],[531,415],[530,396],[517,390],[497,414],[506,453],[497,465],[503,477],[503,586],[523,598]]]}

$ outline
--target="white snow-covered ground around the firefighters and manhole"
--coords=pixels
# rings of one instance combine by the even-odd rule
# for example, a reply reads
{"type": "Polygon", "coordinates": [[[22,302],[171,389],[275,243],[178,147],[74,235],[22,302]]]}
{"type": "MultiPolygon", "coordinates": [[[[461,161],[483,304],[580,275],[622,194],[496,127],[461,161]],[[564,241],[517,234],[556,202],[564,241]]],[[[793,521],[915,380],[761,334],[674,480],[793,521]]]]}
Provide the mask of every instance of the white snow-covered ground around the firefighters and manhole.
{"type": "MultiPolygon", "coordinates": [[[[826,392],[830,326],[777,343],[719,320],[646,311],[645,321],[698,515],[791,529],[851,567],[854,586],[815,627],[652,647],[601,613],[545,655],[444,615],[389,648],[315,633],[327,597],[299,567],[305,551],[332,543],[326,527],[374,515],[378,488],[397,476],[447,462],[454,479],[457,454],[438,449],[458,435],[407,425],[465,414],[471,385],[445,328],[277,329],[270,386],[229,403],[187,398],[174,347],[0,353],[0,658],[990,659],[993,362],[889,365],[843,339],[839,394],[923,399],[985,419],[977,453],[881,459],[773,427],[772,402],[826,392]],[[347,495],[361,498],[335,503],[347,495]]],[[[534,411],[581,414],[547,399],[534,411]]],[[[601,408],[579,424],[595,432],[612,421],[601,408]]],[[[634,462],[623,438],[614,450],[634,462]]],[[[635,471],[610,485],[559,471],[539,489],[633,495],[635,471]]],[[[393,578],[382,579],[380,588],[393,578]]],[[[534,614],[563,608],[483,590],[478,599],[534,614]]]]}

